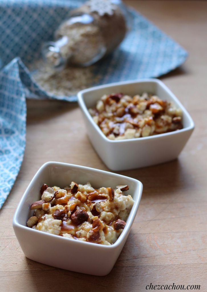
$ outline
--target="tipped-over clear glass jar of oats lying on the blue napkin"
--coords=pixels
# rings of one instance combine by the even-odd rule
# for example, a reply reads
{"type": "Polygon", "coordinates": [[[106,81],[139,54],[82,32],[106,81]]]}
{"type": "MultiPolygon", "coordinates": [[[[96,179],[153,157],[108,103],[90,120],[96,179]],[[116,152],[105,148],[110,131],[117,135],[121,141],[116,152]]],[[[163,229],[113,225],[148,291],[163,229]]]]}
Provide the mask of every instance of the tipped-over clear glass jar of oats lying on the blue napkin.
{"type": "Polygon", "coordinates": [[[122,6],[119,0],[90,0],[73,10],[55,31],[55,41],[43,45],[45,62],[54,69],[89,66],[111,53],[127,31],[122,6]]]}

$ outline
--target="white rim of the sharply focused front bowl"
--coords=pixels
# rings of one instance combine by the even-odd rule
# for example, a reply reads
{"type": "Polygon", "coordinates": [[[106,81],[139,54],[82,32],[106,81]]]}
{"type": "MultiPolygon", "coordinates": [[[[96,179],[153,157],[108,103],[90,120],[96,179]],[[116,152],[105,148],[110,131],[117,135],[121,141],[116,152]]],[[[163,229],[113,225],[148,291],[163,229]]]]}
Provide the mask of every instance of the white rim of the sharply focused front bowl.
{"type": "MultiPolygon", "coordinates": [[[[131,178],[131,177],[128,177],[128,176],[125,176],[125,175],[121,175],[121,174],[117,174],[117,173],[112,173],[110,171],[103,171],[103,170],[100,170],[100,169],[96,169],[96,168],[92,168],[92,167],[87,167],[87,166],[81,166],[81,165],[76,165],[76,164],[69,164],[69,163],[64,163],[64,162],[57,162],[57,161],[48,161],[46,163],[44,163],[39,169],[38,171],[36,172],[36,174],[34,175],[34,177],[31,179],[29,185],[27,186],[26,190],[24,191],[24,194],[22,195],[20,201],[19,201],[19,204],[16,208],[16,211],[15,211],[15,214],[13,216],[13,228],[17,227],[17,228],[20,228],[20,229],[24,229],[25,231],[27,232],[38,232],[38,234],[40,234],[40,236],[49,236],[49,237],[55,237],[56,239],[59,238],[59,240],[70,240],[72,241],[73,243],[76,243],[76,244],[83,244],[83,246],[87,247],[88,246],[93,246],[94,248],[110,248],[110,249],[115,249],[115,248],[118,248],[121,244],[122,244],[122,241],[124,240],[124,238],[127,236],[127,232],[131,230],[131,226],[134,222],[134,219],[135,219],[135,216],[136,216],[136,213],[138,211],[138,207],[139,207],[139,204],[140,204],[140,200],[141,200],[141,196],[142,196],[142,190],[143,190],[143,185],[141,183],[141,181],[139,180],[136,180],[135,178],[131,178]],[[37,180],[37,177],[38,175],[45,169],[47,168],[48,166],[50,165],[59,165],[59,166],[68,166],[69,168],[73,168],[73,167],[76,167],[76,168],[82,168],[82,169],[85,169],[86,171],[97,171],[99,173],[103,173],[103,174],[109,174],[112,175],[112,176],[118,176],[118,177],[124,177],[124,178],[127,178],[129,180],[133,180],[135,183],[136,183],[136,187],[138,187],[138,197],[136,200],[134,200],[134,204],[132,206],[133,210],[130,211],[129,213],[129,216],[127,218],[127,224],[126,224],[126,227],[124,228],[124,230],[122,231],[122,233],[120,234],[120,236],[118,237],[118,239],[115,241],[114,244],[112,245],[104,245],[104,244],[97,244],[97,243],[93,243],[93,242],[87,242],[87,241],[81,241],[81,240],[76,240],[74,241],[74,239],[70,239],[70,238],[66,238],[66,237],[62,237],[62,236],[59,236],[59,235],[56,235],[56,234],[51,234],[51,233],[47,233],[47,232],[42,232],[41,230],[35,230],[35,229],[32,229],[32,228],[29,228],[27,227],[26,225],[22,225],[18,222],[18,213],[20,212],[20,208],[22,206],[22,203],[24,201],[24,199],[27,197],[27,194],[29,192],[29,189],[32,185],[34,185],[34,183],[36,182],[37,180]]],[[[51,238],[52,238],[51,237],[51,238]]]]}

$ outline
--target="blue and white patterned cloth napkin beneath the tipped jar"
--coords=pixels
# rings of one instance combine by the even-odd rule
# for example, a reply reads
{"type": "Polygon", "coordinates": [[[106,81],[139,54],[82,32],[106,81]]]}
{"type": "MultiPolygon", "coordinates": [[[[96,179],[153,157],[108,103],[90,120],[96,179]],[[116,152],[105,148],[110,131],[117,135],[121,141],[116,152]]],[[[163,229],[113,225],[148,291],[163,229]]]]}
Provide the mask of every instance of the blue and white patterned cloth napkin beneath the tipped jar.
{"type": "MultiPolygon", "coordinates": [[[[0,208],[23,160],[26,98],[76,101],[76,96],[47,94],[32,80],[24,63],[40,57],[41,44],[52,39],[69,9],[83,2],[0,0],[0,208]]],[[[181,65],[187,57],[180,45],[142,15],[130,9],[129,16],[131,31],[121,46],[94,66],[94,74],[101,76],[98,84],[158,77],[181,65]]]]}

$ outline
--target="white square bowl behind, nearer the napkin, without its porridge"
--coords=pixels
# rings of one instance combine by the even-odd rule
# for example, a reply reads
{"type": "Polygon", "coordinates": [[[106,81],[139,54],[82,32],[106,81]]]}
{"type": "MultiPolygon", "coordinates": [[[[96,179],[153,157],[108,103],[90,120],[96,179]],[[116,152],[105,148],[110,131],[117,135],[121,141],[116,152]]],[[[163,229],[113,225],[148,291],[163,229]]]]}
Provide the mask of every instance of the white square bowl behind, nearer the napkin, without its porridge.
{"type": "Polygon", "coordinates": [[[176,96],[159,79],[142,79],[111,83],[82,90],[78,93],[90,141],[106,166],[114,171],[140,168],[176,159],[194,129],[194,122],[176,96]],[[104,94],[122,92],[128,95],[148,92],[172,101],[183,112],[183,129],[127,140],[110,140],[93,121],[88,109],[104,94]]]}

